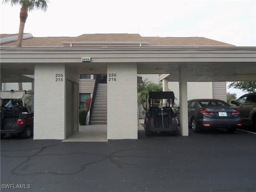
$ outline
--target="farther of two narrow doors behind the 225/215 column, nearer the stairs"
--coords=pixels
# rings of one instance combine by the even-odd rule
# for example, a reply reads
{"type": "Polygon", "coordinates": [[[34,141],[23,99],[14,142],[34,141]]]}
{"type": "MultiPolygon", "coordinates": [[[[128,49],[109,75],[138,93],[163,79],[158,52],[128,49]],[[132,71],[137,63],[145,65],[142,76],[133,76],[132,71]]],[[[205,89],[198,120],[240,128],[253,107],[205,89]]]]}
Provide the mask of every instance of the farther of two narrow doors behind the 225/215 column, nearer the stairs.
{"type": "Polygon", "coordinates": [[[73,92],[73,134],[78,132],[78,108],[79,108],[79,103],[78,103],[78,84],[73,83],[74,86],[74,92],[73,92]]]}

